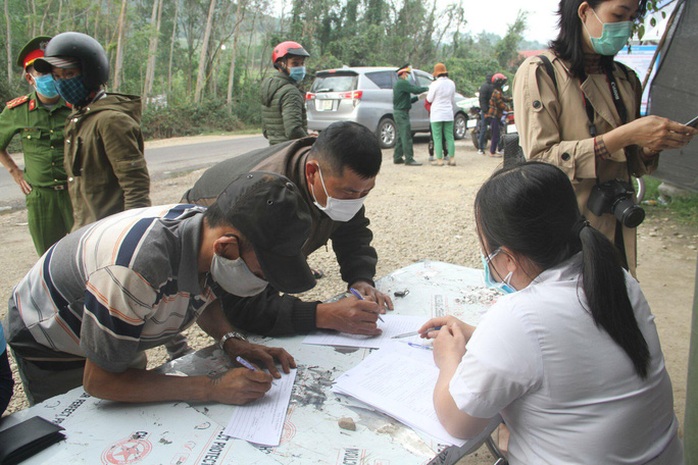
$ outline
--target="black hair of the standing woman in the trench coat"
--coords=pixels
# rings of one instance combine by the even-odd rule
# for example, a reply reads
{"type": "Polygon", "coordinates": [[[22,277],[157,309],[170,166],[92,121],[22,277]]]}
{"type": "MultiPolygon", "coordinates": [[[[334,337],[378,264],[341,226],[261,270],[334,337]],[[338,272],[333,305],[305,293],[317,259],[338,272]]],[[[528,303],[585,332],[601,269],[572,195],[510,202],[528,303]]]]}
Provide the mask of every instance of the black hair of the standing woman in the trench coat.
{"type": "MultiPolygon", "coordinates": [[[[557,39],[550,42],[551,50],[558,57],[570,63],[572,75],[577,78],[584,76],[584,26],[579,19],[577,10],[579,5],[587,2],[592,9],[608,0],[560,0],[557,14],[558,27],[560,28],[557,39]]],[[[637,19],[640,21],[647,10],[647,0],[639,0],[637,19]]],[[[610,69],[613,64],[613,57],[601,56],[601,65],[605,69],[610,69]]]]}

